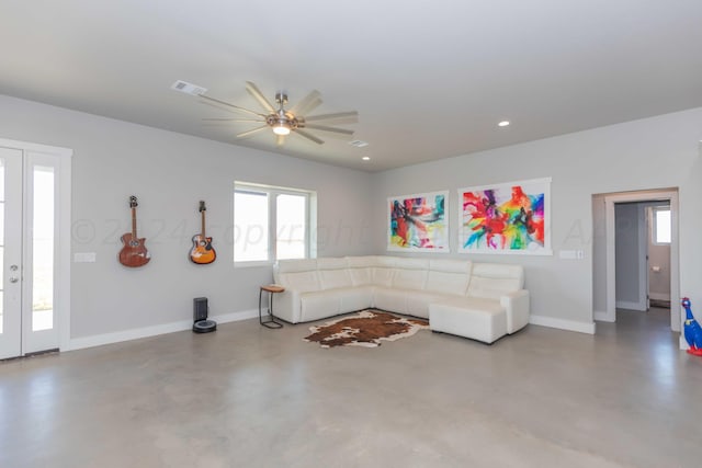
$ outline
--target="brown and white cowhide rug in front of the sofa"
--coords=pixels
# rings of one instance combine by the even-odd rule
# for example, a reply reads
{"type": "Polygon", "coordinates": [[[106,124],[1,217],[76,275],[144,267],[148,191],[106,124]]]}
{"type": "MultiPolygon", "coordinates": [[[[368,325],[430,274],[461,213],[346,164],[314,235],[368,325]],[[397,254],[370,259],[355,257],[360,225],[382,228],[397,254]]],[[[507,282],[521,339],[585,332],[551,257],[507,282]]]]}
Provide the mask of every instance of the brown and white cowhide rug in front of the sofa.
{"type": "Polygon", "coordinates": [[[309,327],[313,333],[304,340],[319,343],[321,347],[376,347],[381,345],[381,340],[399,340],[422,329],[429,329],[428,321],[398,317],[380,310],[363,310],[322,326],[309,327]]]}

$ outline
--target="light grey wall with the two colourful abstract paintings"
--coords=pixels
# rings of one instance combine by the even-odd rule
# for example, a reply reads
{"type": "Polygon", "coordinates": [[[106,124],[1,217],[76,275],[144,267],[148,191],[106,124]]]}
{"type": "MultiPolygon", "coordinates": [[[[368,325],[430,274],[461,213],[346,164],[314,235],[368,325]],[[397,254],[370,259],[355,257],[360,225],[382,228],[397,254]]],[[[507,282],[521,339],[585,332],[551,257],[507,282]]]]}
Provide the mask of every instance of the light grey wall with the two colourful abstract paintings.
{"type": "Polygon", "coordinates": [[[700,140],[702,109],[694,109],[374,174],[374,224],[383,227],[374,230],[375,251],[385,251],[388,196],[449,189],[456,252],[457,189],[551,176],[554,255],[469,258],[525,265],[532,312],[540,322],[545,318],[554,326],[587,331],[593,328],[592,194],[679,187],[681,294],[702,304],[700,140]],[[565,249],[582,249],[586,258],[561,260],[558,251],[565,249]]]}

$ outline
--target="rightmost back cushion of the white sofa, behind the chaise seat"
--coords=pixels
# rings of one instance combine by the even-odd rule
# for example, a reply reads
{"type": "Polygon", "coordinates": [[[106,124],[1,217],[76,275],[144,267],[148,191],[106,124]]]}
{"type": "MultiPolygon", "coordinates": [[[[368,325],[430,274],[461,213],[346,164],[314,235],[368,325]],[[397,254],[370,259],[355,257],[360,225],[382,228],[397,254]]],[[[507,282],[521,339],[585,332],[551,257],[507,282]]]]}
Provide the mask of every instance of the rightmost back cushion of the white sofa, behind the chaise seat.
{"type": "Polygon", "coordinates": [[[524,269],[521,265],[474,263],[468,284],[468,296],[498,299],[505,293],[524,287],[524,269]]]}

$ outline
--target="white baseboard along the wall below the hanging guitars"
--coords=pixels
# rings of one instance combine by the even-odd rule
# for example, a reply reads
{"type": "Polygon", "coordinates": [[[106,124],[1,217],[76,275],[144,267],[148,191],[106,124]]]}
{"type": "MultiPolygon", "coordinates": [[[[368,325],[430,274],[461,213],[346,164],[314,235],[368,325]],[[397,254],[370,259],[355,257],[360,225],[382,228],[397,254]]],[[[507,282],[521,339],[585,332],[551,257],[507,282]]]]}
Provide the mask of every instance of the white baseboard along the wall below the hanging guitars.
{"type": "MultiPolygon", "coordinates": [[[[208,317],[208,319],[217,323],[236,322],[239,320],[252,319],[259,316],[258,309],[244,310],[240,312],[224,313],[220,316],[208,317]]],[[[61,351],[75,351],[86,347],[102,346],[103,344],[120,343],[123,341],[138,340],[140,338],[156,336],[165,333],[173,333],[178,331],[191,330],[192,320],[181,320],[178,322],[163,323],[160,326],[145,327],[140,329],[124,330],[115,333],[95,334],[84,338],[71,339],[68,349],[61,351]]]]}

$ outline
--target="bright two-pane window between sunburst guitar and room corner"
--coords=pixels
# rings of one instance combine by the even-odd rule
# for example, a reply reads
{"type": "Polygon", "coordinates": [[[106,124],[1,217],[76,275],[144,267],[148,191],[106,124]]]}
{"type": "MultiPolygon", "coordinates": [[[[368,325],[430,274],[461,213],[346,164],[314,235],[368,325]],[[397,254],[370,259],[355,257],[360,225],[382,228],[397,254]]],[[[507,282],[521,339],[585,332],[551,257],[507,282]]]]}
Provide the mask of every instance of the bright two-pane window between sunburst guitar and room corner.
{"type": "Polygon", "coordinates": [[[234,261],[312,256],[314,199],[313,192],[235,182],[234,261]]]}

